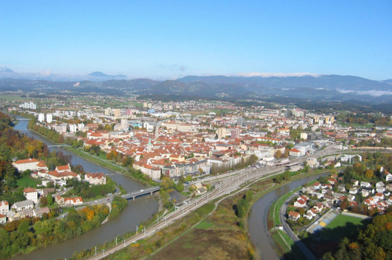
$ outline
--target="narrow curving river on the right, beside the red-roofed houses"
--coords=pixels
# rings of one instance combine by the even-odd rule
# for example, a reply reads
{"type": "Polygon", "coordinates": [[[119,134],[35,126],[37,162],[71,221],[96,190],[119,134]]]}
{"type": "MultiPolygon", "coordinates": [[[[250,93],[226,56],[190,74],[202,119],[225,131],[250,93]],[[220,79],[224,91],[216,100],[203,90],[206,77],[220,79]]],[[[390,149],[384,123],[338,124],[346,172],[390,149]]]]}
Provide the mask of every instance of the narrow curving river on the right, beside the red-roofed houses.
{"type": "Polygon", "coordinates": [[[269,192],[260,198],[260,200],[257,200],[257,202],[253,205],[251,209],[251,215],[248,218],[249,235],[251,235],[252,242],[255,244],[255,254],[260,255],[262,259],[279,260],[279,257],[274,250],[275,245],[270,238],[267,228],[268,209],[272,203],[277,200],[277,198],[290,192],[290,190],[294,190],[296,187],[299,187],[304,183],[317,179],[323,175],[325,175],[325,173],[306,177],[297,181],[292,181],[291,183],[269,192]]]}

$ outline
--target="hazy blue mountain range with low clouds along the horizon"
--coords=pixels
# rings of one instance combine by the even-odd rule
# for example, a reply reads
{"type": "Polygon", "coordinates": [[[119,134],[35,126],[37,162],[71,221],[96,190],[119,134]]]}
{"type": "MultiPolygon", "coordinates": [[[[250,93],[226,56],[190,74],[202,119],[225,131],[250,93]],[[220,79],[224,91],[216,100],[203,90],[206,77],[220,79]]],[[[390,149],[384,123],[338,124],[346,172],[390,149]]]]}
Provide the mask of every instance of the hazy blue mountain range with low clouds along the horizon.
{"type": "Polygon", "coordinates": [[[111,94],[180,95],[205,99],[259,99],[283,96],[308,100],[360,100],[392,103],[392,79],[373,81],[341,75],[296,77],[187,76],[176,80],[130,79],[101,72],[84,76],[20,74],[0,68],[0,90],[55,93],[98,92],[111,94]],[[16,77],[19,75],[19,77],[16,77]],[[40,76],[41,75],[41,76],[40,76]],[[12,77],[11,77],[12,76],[12,77]],[[25,78],[23,78],[25,77],[25,78]],[[67,79],[67,80],[65,80],[67,79]]]}

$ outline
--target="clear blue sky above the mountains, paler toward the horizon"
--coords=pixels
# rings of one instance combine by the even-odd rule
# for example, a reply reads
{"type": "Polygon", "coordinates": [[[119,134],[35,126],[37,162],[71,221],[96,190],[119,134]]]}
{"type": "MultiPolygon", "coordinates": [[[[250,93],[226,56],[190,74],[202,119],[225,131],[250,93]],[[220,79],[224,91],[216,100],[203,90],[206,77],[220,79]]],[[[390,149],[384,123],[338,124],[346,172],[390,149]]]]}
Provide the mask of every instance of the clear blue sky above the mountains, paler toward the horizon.
{"type": "Polygon", "coordinates": [[[392,1],[2,1],[0,66],[392,79],[392,1]]]}

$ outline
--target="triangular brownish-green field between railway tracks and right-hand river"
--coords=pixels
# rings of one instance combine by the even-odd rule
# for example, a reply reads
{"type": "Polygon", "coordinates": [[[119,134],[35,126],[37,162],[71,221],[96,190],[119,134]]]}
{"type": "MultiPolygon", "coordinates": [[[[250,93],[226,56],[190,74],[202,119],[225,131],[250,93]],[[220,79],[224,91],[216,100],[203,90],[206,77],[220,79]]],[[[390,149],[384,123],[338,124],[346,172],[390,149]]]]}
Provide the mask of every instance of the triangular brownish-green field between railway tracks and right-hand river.
{"type": "Polygon", "coordinates": [[[148,259],[249,259],[253,248],[233,210],[243,195],[223,200],[214,213],[148,259]]]}

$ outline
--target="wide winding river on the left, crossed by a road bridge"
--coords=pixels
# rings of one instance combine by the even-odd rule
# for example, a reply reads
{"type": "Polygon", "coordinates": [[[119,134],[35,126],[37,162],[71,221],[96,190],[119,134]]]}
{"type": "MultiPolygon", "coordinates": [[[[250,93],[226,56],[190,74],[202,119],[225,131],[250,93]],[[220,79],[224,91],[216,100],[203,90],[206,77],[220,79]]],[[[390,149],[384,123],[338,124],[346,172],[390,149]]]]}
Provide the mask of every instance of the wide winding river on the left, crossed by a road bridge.
{"type": "MultiPolygon", "coordinates": [[[[14,129],[25,133],[27,136],[41,140],[45,144],[53,145],[52,142],[36,135],[27,129],[27,120],[19,120],[19,123],[14,129]]],[[[92,164],[91,162],[74,155],[63,148],[50,148],[50,151],[61,151],[65,155],[71,155],[71,164],[80,164],[86,172],[104,172],[108,174],[113,181],[121,184],[127,192],[134,192],[143,189],[145,186],[141,183],[125,177],[117,172],[111,172],[100,166],[92,164]]],[[[102,244],[108,240],[114,239],[117,235],[123,235],[128,231],[136,231],[136,226],[143,220],[148,220],[158,210],[158,201],[151,196],[143,196],[135,200],[128,200],[128,206],[117,218],[102,224],[97,229],[84,233],[73,239],[69,239],[61,244],[49,246],[27,255],[14,257],[15,260],[30,260],[30,259],[65,259],[70,258],[75,251],[84,250],[102,244]]]]}

